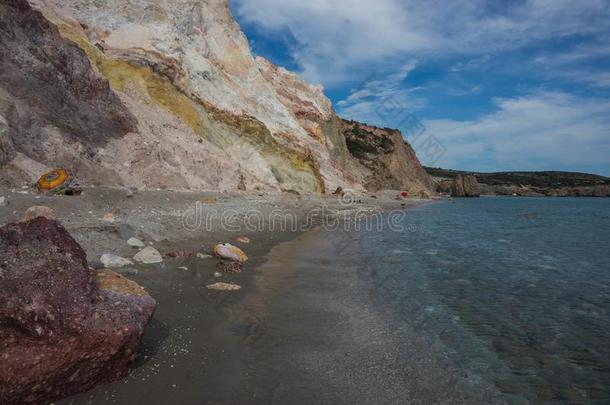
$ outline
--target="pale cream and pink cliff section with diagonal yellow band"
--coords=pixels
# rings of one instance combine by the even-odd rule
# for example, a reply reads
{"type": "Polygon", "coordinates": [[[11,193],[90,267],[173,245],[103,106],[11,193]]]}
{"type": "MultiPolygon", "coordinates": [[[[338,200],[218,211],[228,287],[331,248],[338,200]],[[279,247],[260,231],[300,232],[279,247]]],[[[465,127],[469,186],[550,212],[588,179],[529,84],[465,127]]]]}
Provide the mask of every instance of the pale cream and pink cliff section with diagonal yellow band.
{"type": "MultiPolygon", "coordinates": [[[[227,0],[29,3],[51,23],[44,35],[53,40],[56,28],[84,51],[89,76],[107,80],[118,98],[104,97],[126,117],[121,125],[107,123],[112,134],[103,142],[82,135],[66,142],[71,127],[45,121],[39,125],[42,151],[9,145],[11,173],[19,172],[15,156],[25,155],[39,165],[71,166],[84,182],[108,185],[317,193],[363,187],[369,169],[348,152],[342,121],[323,89],[254,58],[227,0]]],[[[62,55],[80,57],[65,44],[60,48],[62,55]]],[[[19,100],[12,83],[5,102],[0,98],[0,114],[31,104],[19,100]]],[[[69,83],[68,96],[82,93],[69,83]]],[[[108,114],[100,119],[112,121],[118,113],[108,114]]]]}

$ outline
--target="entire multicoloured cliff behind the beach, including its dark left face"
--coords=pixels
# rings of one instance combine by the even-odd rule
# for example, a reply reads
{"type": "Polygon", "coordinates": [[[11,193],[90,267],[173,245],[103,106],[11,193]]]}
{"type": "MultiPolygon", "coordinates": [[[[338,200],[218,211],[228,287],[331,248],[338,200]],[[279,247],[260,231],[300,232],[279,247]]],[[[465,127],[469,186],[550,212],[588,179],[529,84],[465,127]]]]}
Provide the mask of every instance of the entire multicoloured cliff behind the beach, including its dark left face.
{"type": "MultiPolygon", "coordinates": [[[[0,185],[433,192],[398,132],[348,147],[323,89],[255,58],[227,0],[6,0],[0,185]]],[[[382,133],[383,132],[383,133],[382,133]]]]}

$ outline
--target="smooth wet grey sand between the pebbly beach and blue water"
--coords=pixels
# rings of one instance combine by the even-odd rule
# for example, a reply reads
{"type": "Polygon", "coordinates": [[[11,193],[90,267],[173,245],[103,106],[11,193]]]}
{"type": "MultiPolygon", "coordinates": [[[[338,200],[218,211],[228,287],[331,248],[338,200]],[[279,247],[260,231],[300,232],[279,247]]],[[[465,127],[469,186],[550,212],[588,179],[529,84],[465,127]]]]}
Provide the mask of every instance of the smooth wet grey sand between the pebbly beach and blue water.
{"type": "Polygon", "coordinates": [[[501,403],[369,298],[358,232],[309,232],[274,248],[246,298],[256,320],[233,403],[501,403]],[[248,299],[249,298],[249,299],[248,299]]]}

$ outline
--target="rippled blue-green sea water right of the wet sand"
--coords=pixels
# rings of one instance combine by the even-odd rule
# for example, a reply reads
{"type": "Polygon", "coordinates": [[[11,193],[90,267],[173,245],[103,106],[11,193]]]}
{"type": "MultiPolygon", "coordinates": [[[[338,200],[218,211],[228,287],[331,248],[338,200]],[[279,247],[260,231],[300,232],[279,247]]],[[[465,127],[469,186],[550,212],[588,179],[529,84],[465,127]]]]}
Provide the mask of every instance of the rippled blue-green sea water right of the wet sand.
{"type": "Polygon", "coordinates": [[[610,200],[481,198],[362,233],[362,285],[509,402],[610,402],[610,200]]]}

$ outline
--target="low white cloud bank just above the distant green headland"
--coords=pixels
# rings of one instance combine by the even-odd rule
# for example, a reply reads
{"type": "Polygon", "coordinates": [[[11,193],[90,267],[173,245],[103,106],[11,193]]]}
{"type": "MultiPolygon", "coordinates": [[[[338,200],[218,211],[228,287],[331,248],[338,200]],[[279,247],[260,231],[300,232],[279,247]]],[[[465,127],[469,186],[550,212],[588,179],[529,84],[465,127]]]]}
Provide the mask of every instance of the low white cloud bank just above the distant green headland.
{"type": "Polygon", "coordinates": [[[440,165],[480,171],[607,168],[610,101],[539,92],[495,104],[497,111],[477,120],[424,122],[447,149],[440,165]]]}

